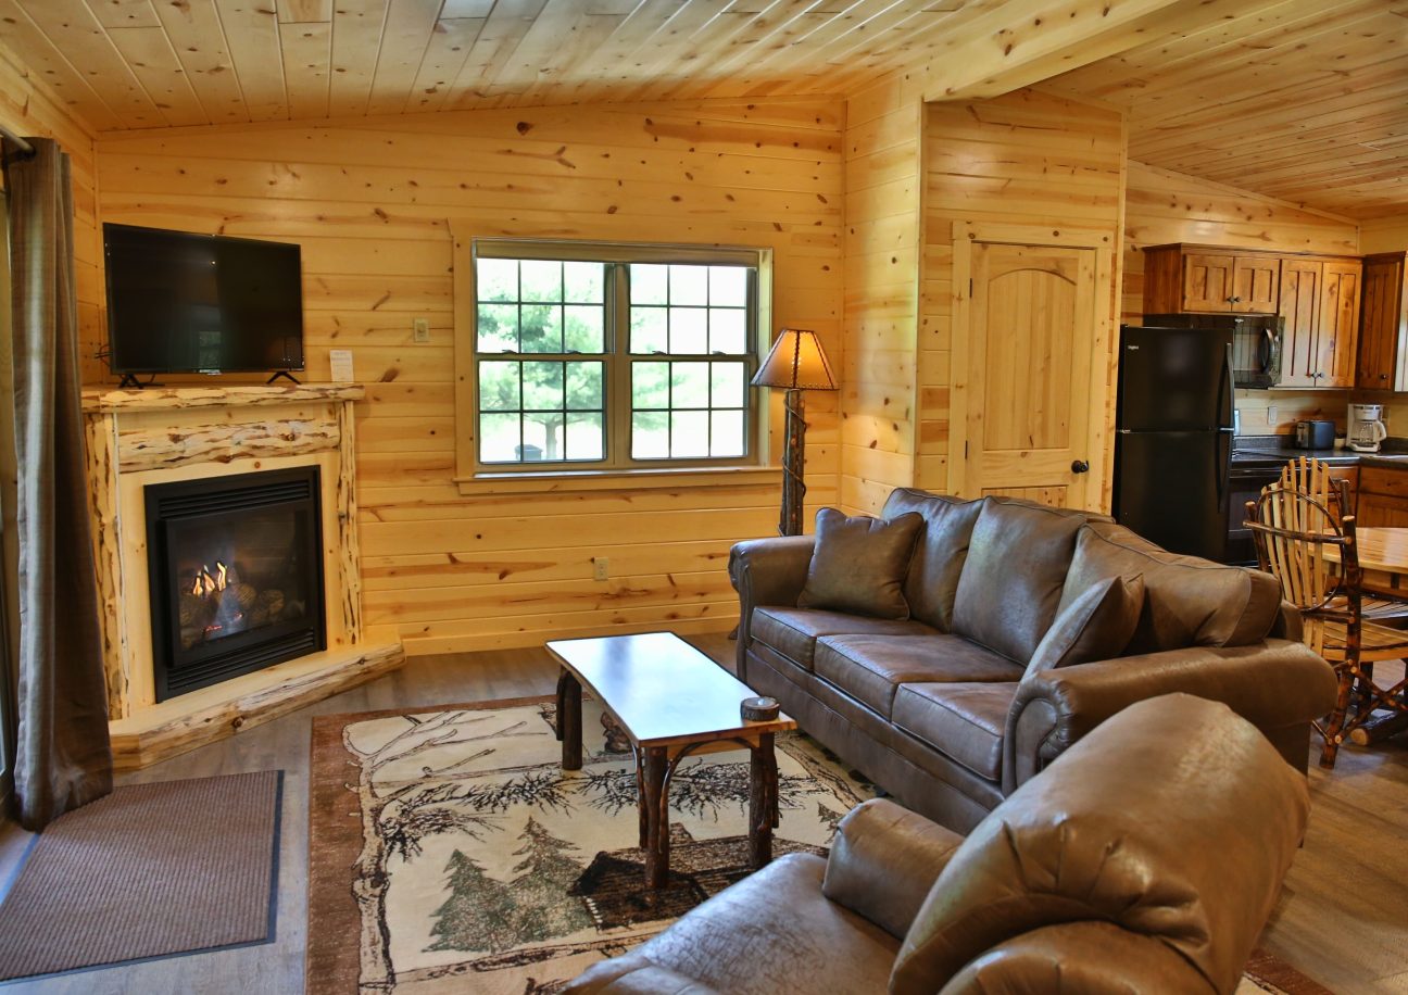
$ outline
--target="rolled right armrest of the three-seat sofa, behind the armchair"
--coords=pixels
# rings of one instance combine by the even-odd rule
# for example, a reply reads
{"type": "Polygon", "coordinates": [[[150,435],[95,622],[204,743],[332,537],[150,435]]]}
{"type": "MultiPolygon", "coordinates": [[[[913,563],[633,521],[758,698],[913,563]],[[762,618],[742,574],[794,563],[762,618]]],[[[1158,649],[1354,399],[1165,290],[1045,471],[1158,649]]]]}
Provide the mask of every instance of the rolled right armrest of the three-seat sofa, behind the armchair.
{"type": "MultiPolygon", "coordinates": [[[[1335,670],[1287,639],[1194,646],[1028,674],[1007,715],[1002,791],[1011,794],[1097,725],[1145,698],[1183,691],[1219,701],[1267,733],[1308,728],[1335,704],[1335,670]]],[[[1305,757],[1287,761],[1305,768],[1305,757]]]]}

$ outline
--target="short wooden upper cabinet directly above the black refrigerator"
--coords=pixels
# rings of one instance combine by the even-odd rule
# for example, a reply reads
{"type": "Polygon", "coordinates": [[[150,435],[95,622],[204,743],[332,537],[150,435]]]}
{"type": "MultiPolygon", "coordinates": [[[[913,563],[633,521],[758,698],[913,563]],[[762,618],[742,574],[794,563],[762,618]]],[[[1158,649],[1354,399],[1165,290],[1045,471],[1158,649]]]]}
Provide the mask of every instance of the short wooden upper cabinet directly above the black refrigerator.
{"type": "Polygon", "coordinates": [[[1145,249],[1145,314],[1276,314],[1281,258],[1195,245],[1145,249]]]}

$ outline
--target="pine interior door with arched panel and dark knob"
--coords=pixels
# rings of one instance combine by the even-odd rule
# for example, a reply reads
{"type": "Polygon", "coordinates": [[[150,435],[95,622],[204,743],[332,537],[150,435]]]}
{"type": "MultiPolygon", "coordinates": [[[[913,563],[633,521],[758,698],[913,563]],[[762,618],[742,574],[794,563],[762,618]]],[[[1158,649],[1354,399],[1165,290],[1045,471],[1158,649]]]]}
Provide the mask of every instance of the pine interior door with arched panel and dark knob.
{"type": "Polygon", "coordinates": [[[956,493],[1098,504],[1098,488],[1087,493],[1091,463],[1102,467],[1091,438],[1104,415],[1091,369],[1108,352],[1098,269],[1093,248],[972,243],[964,360],[955,369],[966,391],[956,493]]]}

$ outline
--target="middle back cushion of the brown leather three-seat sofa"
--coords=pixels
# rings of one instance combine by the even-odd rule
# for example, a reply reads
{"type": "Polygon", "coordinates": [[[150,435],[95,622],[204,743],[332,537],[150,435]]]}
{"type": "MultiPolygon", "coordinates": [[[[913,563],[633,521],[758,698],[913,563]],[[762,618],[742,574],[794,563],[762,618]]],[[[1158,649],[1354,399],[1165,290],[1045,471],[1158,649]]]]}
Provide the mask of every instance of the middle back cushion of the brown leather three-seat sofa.
{"type": "Polygon", "coordinates": [[[953,601],[953,632],[1024,666],[1056,618],[1084,519],[987,500],[953,601]]]}

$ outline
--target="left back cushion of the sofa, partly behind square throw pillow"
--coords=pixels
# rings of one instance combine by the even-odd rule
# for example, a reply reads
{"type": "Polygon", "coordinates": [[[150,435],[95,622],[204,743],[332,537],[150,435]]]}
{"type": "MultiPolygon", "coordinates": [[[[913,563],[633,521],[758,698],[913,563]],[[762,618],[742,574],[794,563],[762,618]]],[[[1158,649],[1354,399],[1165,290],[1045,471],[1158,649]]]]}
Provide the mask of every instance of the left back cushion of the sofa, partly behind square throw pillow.
{"type": "Polygon", "coordinates": [[[880,514],[895,518],[910,511],[924,516],[919,540],[910,557],[910,574],[904,580],[910,618],[928,622],[939,632],[949,632],[953,629],[953,595],[983,501],[897,487],[890,491],[880,514]]]}

